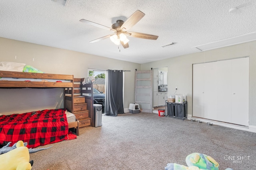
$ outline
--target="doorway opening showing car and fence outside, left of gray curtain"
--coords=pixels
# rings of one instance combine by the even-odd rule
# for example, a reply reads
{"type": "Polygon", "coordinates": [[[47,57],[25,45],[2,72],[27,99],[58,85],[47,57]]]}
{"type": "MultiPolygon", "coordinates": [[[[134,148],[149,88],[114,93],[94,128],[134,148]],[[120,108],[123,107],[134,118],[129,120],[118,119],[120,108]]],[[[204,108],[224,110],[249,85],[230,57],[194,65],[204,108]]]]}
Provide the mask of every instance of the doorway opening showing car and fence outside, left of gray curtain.
{"type": "Polygon", "coordinates": [[[93,104],[102,105],[102,114],[105,113],[105,87],[106,87],[106,70],[88,69],[88,76],[94,76],[93,83],[93,104]]]}

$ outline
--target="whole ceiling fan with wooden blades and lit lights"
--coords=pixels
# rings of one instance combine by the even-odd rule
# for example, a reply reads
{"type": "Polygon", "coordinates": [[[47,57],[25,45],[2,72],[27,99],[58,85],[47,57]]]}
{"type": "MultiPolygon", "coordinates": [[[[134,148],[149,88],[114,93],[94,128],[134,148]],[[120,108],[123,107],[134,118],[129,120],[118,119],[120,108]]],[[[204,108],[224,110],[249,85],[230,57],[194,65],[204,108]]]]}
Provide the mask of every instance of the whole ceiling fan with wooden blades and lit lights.
{"type": "Polygon", "coordinates": [[[113,43],[115,43],[116,45],[120,45],[120,43],[121,43],[122,46],[126,49],[129,47],[129,45],[128,45],[129,40],[127,39],[126,36],[143,38],[143,39],[152,39],[152,40],[156,40],[158,38],[157,35],[128,31],[138,21],[140,21],[144,16],[145,16],[145,14],[143,12],[141,12],[140,10],[137,10],[125,22],[122,20],[117,20],[116,23],[114,23],[111,28],[106,27],[104,25],[100,25],[100,24],[92,22],[92,21],[84,20],[84,19],[80,20],[80,22],[84,22],[89,25],[93,25],[93,26],[100,27],[100,28],[107,29],[107,30],[114,32],[113,34],[106,35],[104,37],[90,41],[90,43],[95,43],[95,42],[98,42],[98,41],[101,41],[103,39],[107,39],[108,37],[110,37],[110,39],[113,43]]]}

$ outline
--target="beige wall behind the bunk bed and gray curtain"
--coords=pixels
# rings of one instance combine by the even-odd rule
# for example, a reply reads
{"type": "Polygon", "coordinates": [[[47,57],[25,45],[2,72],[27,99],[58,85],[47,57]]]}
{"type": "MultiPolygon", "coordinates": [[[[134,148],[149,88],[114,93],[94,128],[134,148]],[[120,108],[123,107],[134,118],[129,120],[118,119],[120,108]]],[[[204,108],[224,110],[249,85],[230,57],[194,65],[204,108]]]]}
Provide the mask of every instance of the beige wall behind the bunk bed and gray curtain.
{"type": "MultiPolygon", "coordinates": [[[[88,75],[88,68],[131,70],[124,73],[124,108],[134,102],[134,74],[140,64],[109,59],[0,37],[0,61],[25,63],[46,73],[88,75]],[[15,59],[16,56],[16,59],[15,59]]],[[[62,89],[0,89],[0,113],[22,113],[63,107],[62,89]],[[32,92],[36,96],[28,92],[32,92]]]]}

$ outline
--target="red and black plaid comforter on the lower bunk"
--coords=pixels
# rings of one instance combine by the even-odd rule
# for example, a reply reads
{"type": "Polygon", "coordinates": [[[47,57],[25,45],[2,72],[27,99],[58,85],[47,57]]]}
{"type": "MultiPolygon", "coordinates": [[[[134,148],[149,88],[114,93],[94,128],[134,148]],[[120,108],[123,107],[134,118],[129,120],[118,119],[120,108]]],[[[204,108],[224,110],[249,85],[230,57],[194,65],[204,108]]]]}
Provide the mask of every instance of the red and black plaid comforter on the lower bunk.
{"type": "Polygon", "coordinates": [[[68,139],[66,109],[50,109],[0,116],[0,145],[27,142],[28,148],[68,139]]]}

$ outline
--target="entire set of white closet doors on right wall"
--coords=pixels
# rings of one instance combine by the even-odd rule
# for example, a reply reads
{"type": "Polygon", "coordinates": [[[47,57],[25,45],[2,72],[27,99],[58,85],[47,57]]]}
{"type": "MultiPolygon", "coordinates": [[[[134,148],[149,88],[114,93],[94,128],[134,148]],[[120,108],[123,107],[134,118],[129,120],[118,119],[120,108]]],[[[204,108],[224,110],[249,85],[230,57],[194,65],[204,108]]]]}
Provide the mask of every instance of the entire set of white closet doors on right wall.
{"type": "Polygon", "coordinates": [[[248,126],[249,57],[193,64],[193,116],[248,126]]]}

